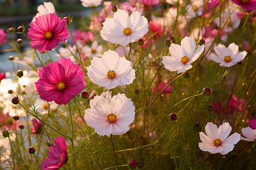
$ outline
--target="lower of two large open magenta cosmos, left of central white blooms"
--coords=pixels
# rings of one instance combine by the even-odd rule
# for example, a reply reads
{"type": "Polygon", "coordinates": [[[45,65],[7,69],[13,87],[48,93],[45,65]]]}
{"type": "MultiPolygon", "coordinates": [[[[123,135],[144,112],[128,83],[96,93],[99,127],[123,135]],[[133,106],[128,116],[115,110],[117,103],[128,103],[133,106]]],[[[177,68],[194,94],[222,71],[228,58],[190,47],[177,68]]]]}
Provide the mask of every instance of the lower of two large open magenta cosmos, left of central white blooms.
{"type": "Polygon", "coordinates": [[[41,99],[67,104],[72,97],[84,90],[84,72],[69,58],[61,58],[39,70],[39,80],[35,82],[41,99]]]}

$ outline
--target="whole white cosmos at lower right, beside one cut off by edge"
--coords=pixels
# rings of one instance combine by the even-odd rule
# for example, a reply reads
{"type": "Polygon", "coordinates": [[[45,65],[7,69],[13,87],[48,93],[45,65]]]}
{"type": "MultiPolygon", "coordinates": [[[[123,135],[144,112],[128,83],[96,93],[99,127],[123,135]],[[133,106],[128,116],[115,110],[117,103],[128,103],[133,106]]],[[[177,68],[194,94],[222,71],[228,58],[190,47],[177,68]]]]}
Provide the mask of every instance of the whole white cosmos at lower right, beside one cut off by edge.
{"type": "Polygon", "coordinates": [[[212,122],[208,122],[207,125],[205,125],[205,132],[207,135],[203,132],[199,133],[202,141],[199,143],[200,150],[208,151],[212,154],[228,154],[228,152],[233,150],[234,145],[240,141],[241,136],[238,133],[234,133],[228,137],[231,130],[232,128],[228,122],[220,125],[219,128],[212,122]]]}

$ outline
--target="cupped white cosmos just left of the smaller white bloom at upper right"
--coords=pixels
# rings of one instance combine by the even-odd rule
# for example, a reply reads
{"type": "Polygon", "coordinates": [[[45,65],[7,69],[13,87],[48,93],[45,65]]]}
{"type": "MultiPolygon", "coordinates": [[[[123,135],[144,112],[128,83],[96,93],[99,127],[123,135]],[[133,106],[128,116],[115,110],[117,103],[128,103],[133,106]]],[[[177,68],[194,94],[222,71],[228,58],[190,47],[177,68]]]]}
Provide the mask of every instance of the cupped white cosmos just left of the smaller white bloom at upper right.
{"type": "Polygon", "coordinates": [[[191,37],[185,37],[181,40],[181,46],[172,43],[169,52],[171,56],[163,57],[164,67],[170,71],[183,73],[192,68],[191,63],[195,62],[204,51],[204,45],[201,45],[196,51],[196,41],[191,37]]]}

